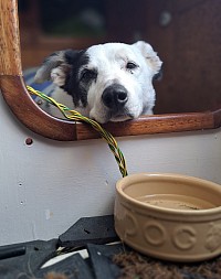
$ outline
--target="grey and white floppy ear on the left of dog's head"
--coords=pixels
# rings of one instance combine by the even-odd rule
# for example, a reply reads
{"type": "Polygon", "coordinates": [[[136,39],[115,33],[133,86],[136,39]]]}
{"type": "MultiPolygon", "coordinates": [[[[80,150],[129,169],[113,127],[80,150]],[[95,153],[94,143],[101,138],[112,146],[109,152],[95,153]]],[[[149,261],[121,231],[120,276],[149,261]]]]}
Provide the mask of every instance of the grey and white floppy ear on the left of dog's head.
{"type": "Polygon", "coordinates": [[[72,67],[69,60],[71,53],[74,56],[78,52],[73,50],[59,51],[46,57],[42,66],[38,69],[34,82],[44,83],[52,81],[56,85],[63,86],[66,75],[72,67]]]}

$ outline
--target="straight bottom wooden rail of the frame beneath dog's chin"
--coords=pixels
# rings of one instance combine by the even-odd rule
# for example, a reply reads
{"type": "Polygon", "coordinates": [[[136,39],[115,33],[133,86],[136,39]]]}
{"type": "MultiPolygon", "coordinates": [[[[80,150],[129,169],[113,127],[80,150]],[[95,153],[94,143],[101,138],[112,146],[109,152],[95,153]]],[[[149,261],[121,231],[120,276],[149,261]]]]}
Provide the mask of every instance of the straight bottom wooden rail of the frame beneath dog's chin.
{"type": "MultiPolygon", "coordinates": [[[[103,125],[115,137],[191,131],[214,128],[213,112],[143,116],[125,122],[103,125]]],[[[77,140],[96,138],[86,125],[76,126],[77,140]]]]}

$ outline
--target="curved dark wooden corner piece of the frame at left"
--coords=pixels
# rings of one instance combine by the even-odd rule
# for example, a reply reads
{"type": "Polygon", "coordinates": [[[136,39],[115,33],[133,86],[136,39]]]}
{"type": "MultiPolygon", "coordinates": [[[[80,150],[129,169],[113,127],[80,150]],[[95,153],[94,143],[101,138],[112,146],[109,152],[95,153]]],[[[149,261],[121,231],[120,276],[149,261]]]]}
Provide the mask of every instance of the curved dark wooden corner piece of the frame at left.
{"type": "Polygon", "coordinates": [[[75,122],[51,117],[35,105],[21,76],[0,76],[2,95],[17,118],[32,131],[56,140],[76,140],[75,122]]]}

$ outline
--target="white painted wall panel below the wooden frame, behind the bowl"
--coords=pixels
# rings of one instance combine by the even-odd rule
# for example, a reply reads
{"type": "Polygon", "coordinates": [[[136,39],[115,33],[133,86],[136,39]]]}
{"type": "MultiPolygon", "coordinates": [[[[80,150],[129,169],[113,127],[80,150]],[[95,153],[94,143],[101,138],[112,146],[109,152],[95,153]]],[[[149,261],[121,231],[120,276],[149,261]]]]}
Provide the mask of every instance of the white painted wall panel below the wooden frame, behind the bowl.
{"type": "MultiPolygon", "coordinates": [[[[178,172],[221,183],[221,129],[117,140],[129,173],[178,172]]],[[[118,179],[105,141],[44,139],[0,95],[0,245],[51,239],[80,217],[113,213],[118,179]]]]}

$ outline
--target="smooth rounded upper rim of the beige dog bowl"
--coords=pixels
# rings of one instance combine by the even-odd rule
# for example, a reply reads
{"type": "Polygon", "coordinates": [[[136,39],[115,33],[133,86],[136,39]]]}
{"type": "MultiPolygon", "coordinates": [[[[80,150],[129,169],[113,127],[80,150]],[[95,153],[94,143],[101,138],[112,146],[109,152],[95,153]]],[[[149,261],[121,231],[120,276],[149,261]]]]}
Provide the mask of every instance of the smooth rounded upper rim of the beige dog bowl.
{"type": "MultiPolygon", "coordinates": [[[[130,204],[134,204],[140,208],[144,210],[151,210],[155,211],[156,213],[168,213],[168,214],[172,214],[172,215],[188,215],[188,216],[202,216],[202,215],[215,215],[219,214],[221,215],[221,204],[220,206],[215,206],[212,208],[207,208],[207,210],[188,210],[188,211],[182,211],[182,210],[176,210],[176,208],[165,208],[165,207],[160,207],[160,206],[156,206],[156,205],[151,205],[148,203],[144,203],[140,201],[137,201],[136,198],[130,197],[129,195],[127,195],[123,187],[127,184],[127,181],[129,180],[136,180],[139,179],[140,181],[144,181],[146,178],[169,178],[169,179],[176,179],[176,180],[186,180],[186,181],[191,181],[191,183],[201,183],[204,187],[206,186],[210,186],[210,189],[213,189],[213,191],[217,191],[218,193],[220,193],[221,195],[221,185],[209,181],[209,180],[204,180],[204,179],[200,179],[197,176],[191,176],[191,175],[186,175],[186,174],[179,174],[179,173],[169,173],[169,172],[140,172],[140,173],[133,173],[133,174],[128,174],[127,176],[118,180],[116,182],[116,191],[119,194],[119,196],[124,197],[125,201],[129,202],[130,204]]],[[[130,184],[133,184],[130,182],[130,184]]]]}

